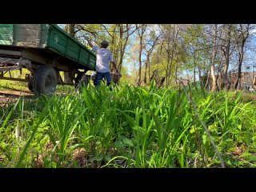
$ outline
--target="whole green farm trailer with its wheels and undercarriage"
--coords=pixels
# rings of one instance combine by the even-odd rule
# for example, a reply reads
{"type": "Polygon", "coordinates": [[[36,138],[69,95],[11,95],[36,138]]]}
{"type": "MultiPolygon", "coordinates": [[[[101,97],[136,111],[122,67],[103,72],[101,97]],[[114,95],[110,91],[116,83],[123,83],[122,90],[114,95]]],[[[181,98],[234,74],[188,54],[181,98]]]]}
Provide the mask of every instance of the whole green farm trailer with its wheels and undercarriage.
{"type": "Polygon", "coordinates": [[[0,79],[28,82],[34,92],[54,93],[58,83],[88,82],[89,76],[83,75],[95,68],[96,55],[57,25],[0,24],[0,79]],[[23,68],[30,71],[25,79],[4,76],[23,68]]]}

